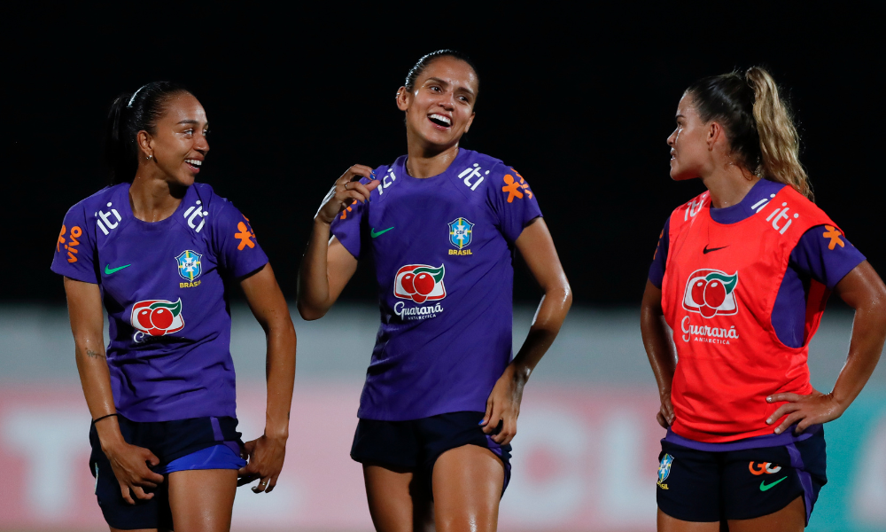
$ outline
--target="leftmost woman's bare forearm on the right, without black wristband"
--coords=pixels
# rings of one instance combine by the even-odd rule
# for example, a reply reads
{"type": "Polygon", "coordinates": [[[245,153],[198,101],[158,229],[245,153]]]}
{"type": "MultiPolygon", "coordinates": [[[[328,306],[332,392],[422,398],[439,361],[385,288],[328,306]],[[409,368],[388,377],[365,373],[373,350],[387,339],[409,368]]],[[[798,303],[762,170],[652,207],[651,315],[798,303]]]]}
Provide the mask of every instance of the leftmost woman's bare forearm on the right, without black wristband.
{"type": "Polygon", "coordinates": [[[268,360],[265,366],[268,382],[268,403],[265,414],[265,435],[289,436],[292,387],[295,381],[295,328],[290,319],[281,320],[268,330],[268,360]]]}

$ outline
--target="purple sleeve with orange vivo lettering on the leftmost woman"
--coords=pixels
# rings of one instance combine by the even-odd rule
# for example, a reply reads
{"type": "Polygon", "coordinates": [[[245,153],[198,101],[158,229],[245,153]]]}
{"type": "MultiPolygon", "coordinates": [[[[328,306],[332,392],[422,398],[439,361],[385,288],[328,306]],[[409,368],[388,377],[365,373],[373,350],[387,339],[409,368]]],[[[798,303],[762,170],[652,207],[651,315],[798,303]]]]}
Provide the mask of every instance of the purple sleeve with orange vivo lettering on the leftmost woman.
{"type": "Polygon", "coordinates": [[[98,284],[96,243],[89,231],[85,207],[80,203],[67,211],[58,231],[51,270],[84,283],[98,284]]]}

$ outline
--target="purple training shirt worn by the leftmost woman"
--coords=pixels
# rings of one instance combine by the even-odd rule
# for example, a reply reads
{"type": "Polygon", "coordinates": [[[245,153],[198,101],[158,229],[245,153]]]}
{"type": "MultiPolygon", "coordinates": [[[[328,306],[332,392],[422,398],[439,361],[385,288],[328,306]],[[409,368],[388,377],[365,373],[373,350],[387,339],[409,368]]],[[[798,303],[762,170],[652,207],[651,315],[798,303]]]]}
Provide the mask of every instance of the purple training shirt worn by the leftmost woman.
{"type": "Polygon", "coordinates": [[[71,207],[52,271],[101,288],[114,404],[134,421],[235,418],[230,313],[223,277],[268,257],[245,216],[194,184],[165,220],[138,220],[129,184],[71,207]]]}

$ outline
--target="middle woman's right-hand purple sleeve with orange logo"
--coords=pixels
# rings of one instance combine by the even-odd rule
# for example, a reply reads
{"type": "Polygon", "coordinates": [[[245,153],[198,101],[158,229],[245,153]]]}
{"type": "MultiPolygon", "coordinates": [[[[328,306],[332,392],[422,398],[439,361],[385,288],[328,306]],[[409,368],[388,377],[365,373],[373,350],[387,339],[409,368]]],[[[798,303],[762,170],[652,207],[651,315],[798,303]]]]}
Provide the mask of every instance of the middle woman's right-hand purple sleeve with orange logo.
{"type": "Polygon", "coordinates": [[[514,168],[494,168],[489,200],[499,220],[501,233],[513,244],[532,220],[541,216],[539,201],[523,176],[514,168]]]}

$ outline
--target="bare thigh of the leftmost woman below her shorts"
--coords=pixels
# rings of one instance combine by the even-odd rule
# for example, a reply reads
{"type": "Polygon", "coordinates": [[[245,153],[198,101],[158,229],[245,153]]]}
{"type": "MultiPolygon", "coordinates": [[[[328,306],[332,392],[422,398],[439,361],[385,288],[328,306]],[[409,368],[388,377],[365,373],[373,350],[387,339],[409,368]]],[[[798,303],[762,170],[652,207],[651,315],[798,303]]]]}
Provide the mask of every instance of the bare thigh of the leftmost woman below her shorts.
{"type": "Polygon", "coordinates": [[[169,507],[175,532],[228,532],[237,493],[236,469],[169,473],[169,507]]]}

